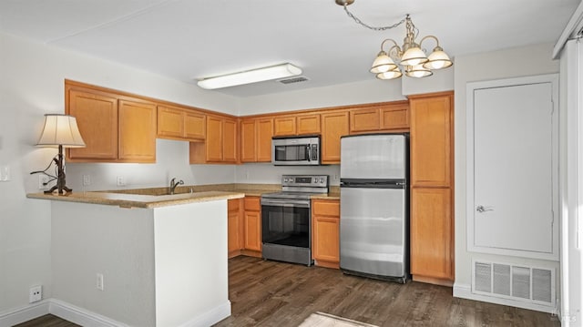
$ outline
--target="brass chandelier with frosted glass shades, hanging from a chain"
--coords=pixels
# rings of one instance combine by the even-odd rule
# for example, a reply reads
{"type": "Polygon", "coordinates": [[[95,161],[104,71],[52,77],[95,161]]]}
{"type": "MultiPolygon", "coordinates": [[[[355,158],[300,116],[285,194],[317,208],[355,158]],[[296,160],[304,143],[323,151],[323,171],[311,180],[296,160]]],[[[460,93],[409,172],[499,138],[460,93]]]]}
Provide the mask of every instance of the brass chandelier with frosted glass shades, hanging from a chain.
{"type": "Polygon", "coordinates": [[[405,15],[404,19],[392,26],[373,27],[363,23],[358,17],[348,11],[348,5],[352,5],[354,0],[335,0],[337,5],[342,5],[346,15],[366,28],[375,31],[387,29],[405,24],[406,34],[403,45],[399,46],[393,39],[387,38],[381,43],[381,51],[374,58],[370,72],[379,79],[394,79],[402,77],[430,77],[434,70],[452,66],[453,63],[444,49],[439,46],[439,40],[435,36],[424,36],[419,43],[415,38],[419,36],[419,30],[414,26],[411,16],[405,15]],[[425,54],[421,47],[425,40],[435,40],[434,50],[429,56],[425,54]],[[387,46],[388,44],[388,46],[387,46]],[[386,47],[385,47],[386,46],[386,47]],[[390,46],[390,47],[389,47],[390,46]],[[385,48],[388,50],[385,51],[385,48]]]}

